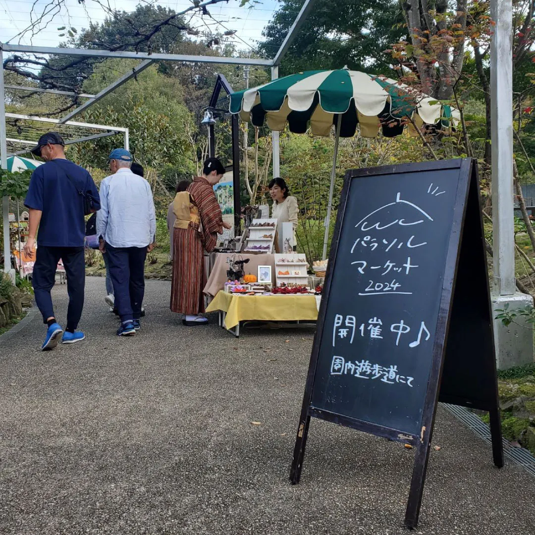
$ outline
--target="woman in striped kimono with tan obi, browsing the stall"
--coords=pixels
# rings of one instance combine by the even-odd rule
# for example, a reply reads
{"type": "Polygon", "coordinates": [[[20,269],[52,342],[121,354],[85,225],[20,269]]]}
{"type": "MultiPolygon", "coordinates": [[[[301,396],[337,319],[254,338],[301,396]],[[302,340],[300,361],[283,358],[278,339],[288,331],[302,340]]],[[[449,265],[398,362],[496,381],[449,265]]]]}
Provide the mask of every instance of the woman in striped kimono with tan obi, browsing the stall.
{"type": "Polygon", "coordinates": [[[217,243],[217,235],[231,225],[224,223],[221,209],[213,191],[225,167],[217,158],[208,158],[201,177],[195,177],[185,192],[173,201],[177,217],[173,234],[173,280],[171,310],[185,314],[184,325],[204,325],[202,290],[206,284],[203,250],[210,253],[217,243]]]}

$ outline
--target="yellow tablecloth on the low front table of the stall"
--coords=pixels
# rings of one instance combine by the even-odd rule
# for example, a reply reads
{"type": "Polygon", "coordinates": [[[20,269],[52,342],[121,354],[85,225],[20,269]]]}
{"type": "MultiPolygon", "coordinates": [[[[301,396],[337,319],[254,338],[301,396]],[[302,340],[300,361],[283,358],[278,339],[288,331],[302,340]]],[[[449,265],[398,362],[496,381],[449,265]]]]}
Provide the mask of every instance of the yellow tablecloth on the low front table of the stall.
{"type": "Polygon", "coordinates": [[[206,309],[215,310],[226,312],[227,329],[251,319],[280,322],[318,318],[314,295],[236,295],[221,290],[206,309]]]}

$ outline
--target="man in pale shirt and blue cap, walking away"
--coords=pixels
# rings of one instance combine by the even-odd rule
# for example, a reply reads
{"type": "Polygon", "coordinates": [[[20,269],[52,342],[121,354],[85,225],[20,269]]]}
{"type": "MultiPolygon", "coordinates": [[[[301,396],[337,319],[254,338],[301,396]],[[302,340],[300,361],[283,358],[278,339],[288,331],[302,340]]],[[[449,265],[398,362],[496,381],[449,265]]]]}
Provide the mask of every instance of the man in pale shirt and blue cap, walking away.
{"type": "Polygon", "coordinates": [[[112,174],[100,186],[97,236],[100,250],[108,254],[121,319],[117,334],[125,336],[141,327],[145,259],[155,246],[156,213],[149,183],[130,169],[132,155],[126,149],[115,149],[109,162],[112,174]]]}

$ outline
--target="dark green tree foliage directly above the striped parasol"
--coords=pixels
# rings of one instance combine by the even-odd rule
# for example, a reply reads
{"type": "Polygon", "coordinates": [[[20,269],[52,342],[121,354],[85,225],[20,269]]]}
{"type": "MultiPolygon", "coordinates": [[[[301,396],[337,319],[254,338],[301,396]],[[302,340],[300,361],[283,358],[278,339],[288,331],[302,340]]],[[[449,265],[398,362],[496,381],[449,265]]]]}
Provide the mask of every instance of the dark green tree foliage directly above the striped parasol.
{"type": "MultiPolygon", "coordinates": [[[[273,57],[299,13],[301,0],[281,0],[264,30],[259,49],[273,57]]],[[[381,73],[391,59],[384,53],[404,34],[395,28],[403,16],[397,0],[317,0],[282,60],[280,75],[341,68],[381,73]]]]}

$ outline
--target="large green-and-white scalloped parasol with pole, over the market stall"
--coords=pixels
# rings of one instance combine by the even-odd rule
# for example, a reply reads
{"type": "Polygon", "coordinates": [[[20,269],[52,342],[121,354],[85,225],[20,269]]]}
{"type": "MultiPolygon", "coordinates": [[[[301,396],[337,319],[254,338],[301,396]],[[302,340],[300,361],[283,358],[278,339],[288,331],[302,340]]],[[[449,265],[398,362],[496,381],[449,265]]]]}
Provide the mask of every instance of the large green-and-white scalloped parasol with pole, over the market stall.
{"type": "Polygon", "coordinates": [[[422,125],[455,126],[458,110],[438,102],[396,80],[349,71],[306,71],[279,78],[262,86],[237,91],[230,96],[230,112],[239,113],[254,126],[264,122],[275,131],[328,136],[334,125],[334,161],[325,218],[323,258],[326,256],[331,218],[334,177],[340,137],[355,135],[357,125],[363,137],[393,137],[408,126],[411,134],[422,125]],[[341,120],[340,120],[341,119],[341,120]]]}

